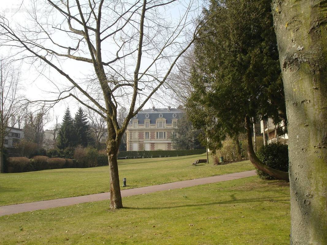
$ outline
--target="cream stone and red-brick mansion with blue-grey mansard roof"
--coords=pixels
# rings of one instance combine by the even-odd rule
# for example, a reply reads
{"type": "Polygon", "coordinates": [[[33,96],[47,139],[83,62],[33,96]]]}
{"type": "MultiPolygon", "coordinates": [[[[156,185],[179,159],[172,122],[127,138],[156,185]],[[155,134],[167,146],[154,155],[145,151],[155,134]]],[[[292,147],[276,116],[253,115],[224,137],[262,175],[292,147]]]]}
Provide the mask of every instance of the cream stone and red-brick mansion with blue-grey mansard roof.
{"type": "Polygon", "coordinates": [[[126,130],[127,151],[174,150],[171,136],[183,115],[177,108],[142,110],[133,117],[126,130]]]}

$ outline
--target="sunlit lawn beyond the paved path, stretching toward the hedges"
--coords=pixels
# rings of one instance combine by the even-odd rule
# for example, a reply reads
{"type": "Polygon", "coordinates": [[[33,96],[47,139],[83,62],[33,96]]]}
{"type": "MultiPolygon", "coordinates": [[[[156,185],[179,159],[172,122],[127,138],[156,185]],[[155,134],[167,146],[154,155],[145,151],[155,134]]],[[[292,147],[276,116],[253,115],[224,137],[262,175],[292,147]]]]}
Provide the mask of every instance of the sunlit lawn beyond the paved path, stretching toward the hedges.
{"type": "MultiPolygon", "coordinates": [[[[199,158],[205,158],[205,154],[119,160],[120,180],[127,178],[127,188],[135,188],[254,169],[250,161],[214,166],[212,159],[209,159],[209,164],[192,166],[192,162],[199,158]]],[[[107,191],[108,166],[0,174],[0,205],[107,191]]]]}

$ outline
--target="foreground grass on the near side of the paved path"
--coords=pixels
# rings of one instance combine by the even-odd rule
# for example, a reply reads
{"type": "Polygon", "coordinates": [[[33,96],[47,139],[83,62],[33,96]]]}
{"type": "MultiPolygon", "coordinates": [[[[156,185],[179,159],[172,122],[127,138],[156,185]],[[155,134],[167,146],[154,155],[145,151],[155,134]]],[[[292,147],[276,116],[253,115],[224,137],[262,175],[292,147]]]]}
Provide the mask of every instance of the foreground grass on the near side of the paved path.
{"type": "Polygon", "coordinates": [[[250,177],[0,217],[2,244],[289,244],[289,186],[250,177]]]}

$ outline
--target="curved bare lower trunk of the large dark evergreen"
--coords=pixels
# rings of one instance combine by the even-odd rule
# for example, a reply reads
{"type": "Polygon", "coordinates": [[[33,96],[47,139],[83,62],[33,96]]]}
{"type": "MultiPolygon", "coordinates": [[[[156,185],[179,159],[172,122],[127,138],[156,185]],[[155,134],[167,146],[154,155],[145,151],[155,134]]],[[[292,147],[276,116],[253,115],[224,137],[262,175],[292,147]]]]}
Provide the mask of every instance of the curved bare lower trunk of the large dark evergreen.
{"type": "Polygon", "coordinates": [[[252,144],[252,133],[251,133],[251,126],[250,126],[250,118],[248,116],[245,117],[245,128],[247,131],[247,143],[248,143],[248,155],[250,158],[251,163],[256,167],[257,169],[269,174],[270,176],[289,181],[288,178],[288,172],[279,171],[276,169],[273,169],[267,165],[265,165],[263,162],[259,160],[257,155],[255,155],[255,152],[253,150],[253,144],[252,144]]]}

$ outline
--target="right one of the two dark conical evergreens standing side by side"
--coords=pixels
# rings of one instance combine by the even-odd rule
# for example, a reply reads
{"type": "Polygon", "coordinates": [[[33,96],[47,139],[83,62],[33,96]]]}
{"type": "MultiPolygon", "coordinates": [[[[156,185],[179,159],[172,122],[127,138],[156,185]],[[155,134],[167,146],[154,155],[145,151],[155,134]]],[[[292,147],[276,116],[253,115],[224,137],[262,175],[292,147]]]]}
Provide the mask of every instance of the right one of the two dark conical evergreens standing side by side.
{"type": "Polygon", "coordinates": [[[90,125],[81,107],[78,108],[78,111],[75,114],[74,131],[75,131],[75,136],[73,140],[74,146],[81,145],[86,147],[91,142],[90,125]]]}

